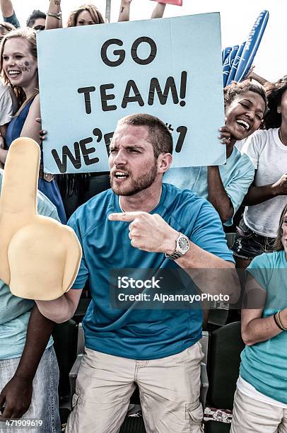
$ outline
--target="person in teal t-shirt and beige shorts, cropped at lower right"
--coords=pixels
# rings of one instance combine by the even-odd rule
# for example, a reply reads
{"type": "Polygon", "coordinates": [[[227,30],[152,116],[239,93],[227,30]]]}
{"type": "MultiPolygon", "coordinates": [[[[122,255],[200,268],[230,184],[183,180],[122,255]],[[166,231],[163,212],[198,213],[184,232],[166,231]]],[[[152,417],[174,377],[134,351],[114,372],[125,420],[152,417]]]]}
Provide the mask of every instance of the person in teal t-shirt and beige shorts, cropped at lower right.
{"type": "Polygon", "coordinates": [[[230,433],[287,431],[287,204],[276,229],[273,252],[257,255],[247,267],[246,347],[230,433]]]}

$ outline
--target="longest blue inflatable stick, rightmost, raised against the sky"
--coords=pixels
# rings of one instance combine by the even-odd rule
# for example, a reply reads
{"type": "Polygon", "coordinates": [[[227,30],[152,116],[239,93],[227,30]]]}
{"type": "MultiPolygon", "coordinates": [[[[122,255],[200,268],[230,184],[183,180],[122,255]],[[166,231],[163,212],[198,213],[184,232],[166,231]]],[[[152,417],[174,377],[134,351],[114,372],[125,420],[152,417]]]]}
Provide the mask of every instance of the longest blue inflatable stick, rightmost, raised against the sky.
{"type": "Polygon", "coordinates": [[[248,74],[250,67],[252,66],[255,54],[257,53],[258,47],[262,40],[266,24],[268,22],[269,12],[262,11],[257,20],[255,21],[250,34],[245,42],[245,47],[241,54],[240,62],[238,63],[237,71],[233,78],[234,81],[242,81],[248,74]]]}

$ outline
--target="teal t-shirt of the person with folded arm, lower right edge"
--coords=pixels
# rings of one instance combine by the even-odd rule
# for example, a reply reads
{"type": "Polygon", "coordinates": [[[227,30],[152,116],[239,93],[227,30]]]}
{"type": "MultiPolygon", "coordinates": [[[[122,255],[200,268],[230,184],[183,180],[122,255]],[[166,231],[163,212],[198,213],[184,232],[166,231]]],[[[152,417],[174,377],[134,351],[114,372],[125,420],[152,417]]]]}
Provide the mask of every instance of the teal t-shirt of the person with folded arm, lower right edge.
{"type": "MultiPolygon", "coordinates": [[[[266,290],[262,317],[287,307],[287,260],[285,251],[264,253],[247,268],[266,290]]],[[[287,404],[287,332],[252,346],[241,354],[240,376],[264,396],[287,404]]]]}

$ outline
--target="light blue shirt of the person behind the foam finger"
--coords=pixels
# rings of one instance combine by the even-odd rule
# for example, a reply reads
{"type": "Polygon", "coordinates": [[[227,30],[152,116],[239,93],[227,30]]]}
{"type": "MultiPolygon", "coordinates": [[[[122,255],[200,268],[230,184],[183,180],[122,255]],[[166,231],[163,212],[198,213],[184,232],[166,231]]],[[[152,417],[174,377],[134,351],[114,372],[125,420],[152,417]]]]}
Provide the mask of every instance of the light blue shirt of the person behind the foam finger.
{"type": "MultiPolygon", "coordinates": [[[[0,170],[0,190],[2,173],[0,170]]],[[[59,221],[56,207],[41,192],[37,195],[37,209],[39,214],[59,221]]],[[[33,306],[34,301],[13,296],[0,279],[0,359],[21,357],[33,306]]],[[[53,339],[50,337],[47,347],[52,344],[53,339]]]]}

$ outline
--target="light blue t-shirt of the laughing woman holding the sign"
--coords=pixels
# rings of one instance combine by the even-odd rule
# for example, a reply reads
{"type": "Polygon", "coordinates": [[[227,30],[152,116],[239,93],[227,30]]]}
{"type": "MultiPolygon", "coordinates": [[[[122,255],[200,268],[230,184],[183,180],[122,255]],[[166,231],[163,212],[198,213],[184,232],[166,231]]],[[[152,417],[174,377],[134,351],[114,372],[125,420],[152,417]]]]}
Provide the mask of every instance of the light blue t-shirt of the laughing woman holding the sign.
{"type": "MultiPolygon", "coordinates": [[[[223,187],[230,198],[234,214],[240,207],[248,188],[254,179],[254,166],[246,154],[233,147],[232,154],[223,166],[218,166],[223,187]]],[[[207,188],[207,167],[170,168],[164,175],[164,181],[182,190],[197,192],[200,197],[209,197],[207,188]]],[[[226,221],[225,226],[231,226],[233,219],[226,221]]]]}

